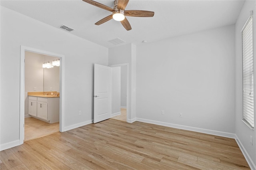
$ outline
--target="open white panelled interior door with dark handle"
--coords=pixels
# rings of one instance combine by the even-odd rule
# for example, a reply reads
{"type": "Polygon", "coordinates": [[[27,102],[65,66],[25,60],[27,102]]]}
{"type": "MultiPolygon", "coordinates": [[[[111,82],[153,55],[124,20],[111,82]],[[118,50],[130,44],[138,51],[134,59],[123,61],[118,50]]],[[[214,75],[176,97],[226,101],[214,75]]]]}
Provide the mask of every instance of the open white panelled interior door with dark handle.
{"type": "Polygon", "coordinates": [[[111,116],[110,67],[94,64],[94,118],[98,123],[111,116]]]}

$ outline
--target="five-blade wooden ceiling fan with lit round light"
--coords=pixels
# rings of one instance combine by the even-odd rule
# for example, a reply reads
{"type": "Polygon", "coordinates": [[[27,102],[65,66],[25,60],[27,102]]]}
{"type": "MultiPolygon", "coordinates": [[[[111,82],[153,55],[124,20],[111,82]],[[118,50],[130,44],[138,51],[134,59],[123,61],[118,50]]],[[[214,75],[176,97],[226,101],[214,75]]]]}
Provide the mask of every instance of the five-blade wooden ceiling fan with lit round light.
{"type": "Polygon", "coordinates": [[[103,24],[112,18],[116,21],[120,21],[124,28],[129,31],[132,30],[132,27],[125,16],[135,16],[135,17],[152,17],[154,16],[154,12],[152,11],[143,11],[143,10],[124,10],[127,6],[129,0],[115,0],[114,8],[110,8],[104,4],[100,4],[99,2],[93,0],[83,0],[89,4],[102,8],[104,10],[108,10],[112,12],[111,15],[99,20],[95,23],[95,25],[103,24]]]}

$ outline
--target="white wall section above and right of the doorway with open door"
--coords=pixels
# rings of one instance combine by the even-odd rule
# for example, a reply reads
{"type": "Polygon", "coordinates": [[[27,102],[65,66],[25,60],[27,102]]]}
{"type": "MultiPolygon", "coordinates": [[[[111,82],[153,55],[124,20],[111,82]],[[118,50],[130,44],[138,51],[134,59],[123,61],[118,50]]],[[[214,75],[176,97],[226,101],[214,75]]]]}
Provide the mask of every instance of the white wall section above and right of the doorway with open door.
{"type": "Polygon", "coordinates": [[[128,122],[136,118],[136,46],[121,45],[108,49],[108,65],[128,63],[128,122]],[[120,55],[121,54],[121,55],[120,55]]]}

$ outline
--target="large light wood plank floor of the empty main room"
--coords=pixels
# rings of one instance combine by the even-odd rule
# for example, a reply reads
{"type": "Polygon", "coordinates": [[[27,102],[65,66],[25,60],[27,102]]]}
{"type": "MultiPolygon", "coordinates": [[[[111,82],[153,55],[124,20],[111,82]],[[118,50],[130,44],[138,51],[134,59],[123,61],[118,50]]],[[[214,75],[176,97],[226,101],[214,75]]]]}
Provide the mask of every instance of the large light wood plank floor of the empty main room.
{"type": "Polygon", "coordinates": [[[1,169],[250,169],[236,141],[108,119],[3,150],[1,169]]]}

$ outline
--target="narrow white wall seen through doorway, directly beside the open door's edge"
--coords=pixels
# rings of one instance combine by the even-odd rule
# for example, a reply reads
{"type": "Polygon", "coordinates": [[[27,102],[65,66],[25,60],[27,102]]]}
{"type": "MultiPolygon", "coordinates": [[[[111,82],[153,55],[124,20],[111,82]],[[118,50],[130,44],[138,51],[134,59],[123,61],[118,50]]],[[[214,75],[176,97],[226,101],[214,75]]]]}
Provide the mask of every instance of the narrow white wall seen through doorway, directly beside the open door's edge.
{"type": "Polygon", "coordinates": [[[112,117],[121,114],[121,67],[111,67],[111,93],[112,117]]]}

